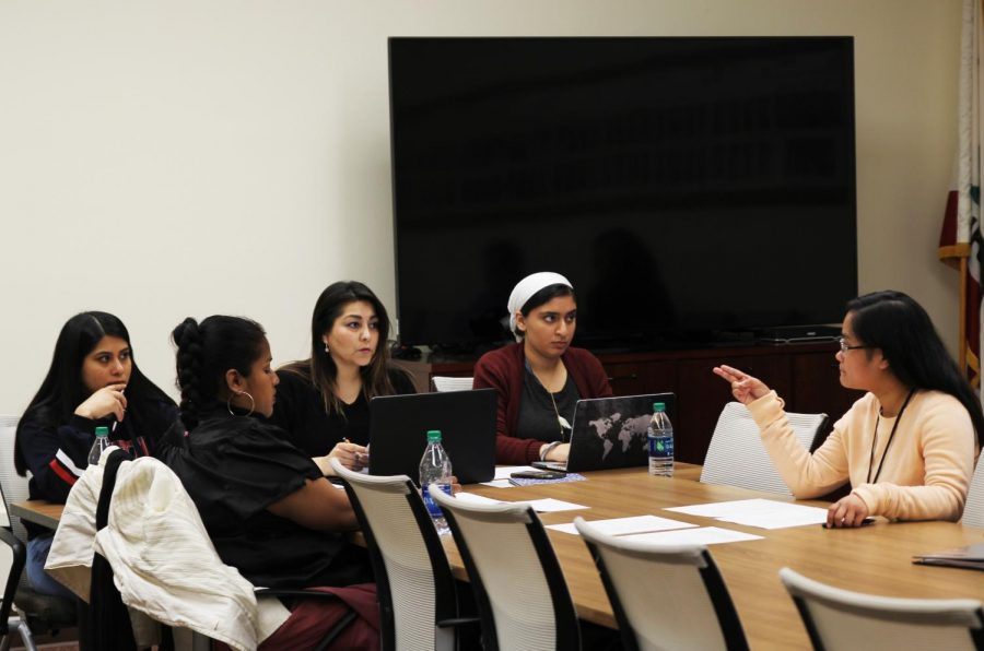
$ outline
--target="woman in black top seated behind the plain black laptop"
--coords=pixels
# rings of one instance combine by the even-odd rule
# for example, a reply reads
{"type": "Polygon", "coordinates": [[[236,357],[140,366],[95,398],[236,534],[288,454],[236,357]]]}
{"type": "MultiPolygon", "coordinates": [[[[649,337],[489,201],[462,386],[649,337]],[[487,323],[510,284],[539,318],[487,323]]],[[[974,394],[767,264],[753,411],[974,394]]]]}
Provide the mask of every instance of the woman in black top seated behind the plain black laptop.
{"type": "Polygon", "coordinates": [[[329,459],[361,470],[368,460],[368,401],[414,393],[409,376],[389,359],[389,317],[372,289],[356,281],[332,283],[311,319],[311,357],[280,370],[272,421],[307,452],[321,472],[329,459]]]}

